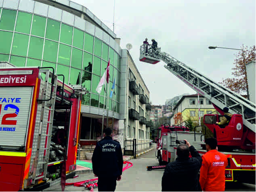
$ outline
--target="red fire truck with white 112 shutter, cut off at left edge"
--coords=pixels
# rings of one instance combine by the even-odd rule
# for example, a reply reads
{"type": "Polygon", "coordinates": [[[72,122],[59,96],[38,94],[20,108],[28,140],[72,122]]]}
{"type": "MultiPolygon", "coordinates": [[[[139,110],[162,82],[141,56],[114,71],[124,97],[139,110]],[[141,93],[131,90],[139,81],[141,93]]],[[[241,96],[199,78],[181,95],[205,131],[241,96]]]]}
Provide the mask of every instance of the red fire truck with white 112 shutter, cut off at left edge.
{"type": "Polygon", "coordinates": [[[64,187],[75,176],[84,89],[63,82],[53,68],[0,68],[0,191],[64,187]]]}

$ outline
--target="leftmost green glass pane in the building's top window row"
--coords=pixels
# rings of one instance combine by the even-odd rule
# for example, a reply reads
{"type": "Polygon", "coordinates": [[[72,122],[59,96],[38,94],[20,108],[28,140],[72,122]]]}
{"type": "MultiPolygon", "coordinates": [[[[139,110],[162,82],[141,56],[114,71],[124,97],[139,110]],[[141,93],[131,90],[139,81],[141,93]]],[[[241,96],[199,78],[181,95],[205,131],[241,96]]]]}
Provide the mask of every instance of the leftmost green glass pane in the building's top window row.
{"type": "Polygon", "coordinates": [[[13,31],[15,19],[16,19],[17,11],[15,10],[8,10],[3,9],[2,10],[2,16],[0,20],[0,29],[13,31]]]}

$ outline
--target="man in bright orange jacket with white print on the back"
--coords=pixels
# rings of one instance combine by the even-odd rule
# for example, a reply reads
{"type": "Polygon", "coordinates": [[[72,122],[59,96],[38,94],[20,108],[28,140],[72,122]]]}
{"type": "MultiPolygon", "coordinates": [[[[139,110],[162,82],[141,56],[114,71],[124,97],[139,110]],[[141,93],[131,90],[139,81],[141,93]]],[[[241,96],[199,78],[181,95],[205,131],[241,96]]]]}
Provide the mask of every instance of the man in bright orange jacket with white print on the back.
{"type": "Polygon", "coordinates": [[[202,156],[200,185],[203,191],[225,191],[225,167],[228,160],[225,154],[218,152],[217,140],[207,138],[206,154],[202,156]]]}

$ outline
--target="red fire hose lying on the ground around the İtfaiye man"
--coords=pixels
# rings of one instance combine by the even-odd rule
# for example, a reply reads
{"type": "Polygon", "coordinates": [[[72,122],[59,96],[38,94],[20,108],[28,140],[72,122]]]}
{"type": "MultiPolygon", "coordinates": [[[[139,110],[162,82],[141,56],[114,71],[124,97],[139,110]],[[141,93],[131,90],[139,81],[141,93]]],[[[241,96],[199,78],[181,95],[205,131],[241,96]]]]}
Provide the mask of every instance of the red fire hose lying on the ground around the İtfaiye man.
{"type": "MultiPolygon", "coordinates": [[[[123,167],[123,171],[125,171],[126,169],[132,167],[132,163],[130,163],[129,161],[124,161],[124,164],[126,164],[125,167],[123,167]]],[[[87,188],[90,191],[93,191],[93,188],[97,187],[97,181],[98,178],[94,178],[94,179],[88,179],[82,182],[74,182],[74,183],[66,183],[66,186],[69,185],[74,185],[76,187],[84,187],[87,188]]]]}

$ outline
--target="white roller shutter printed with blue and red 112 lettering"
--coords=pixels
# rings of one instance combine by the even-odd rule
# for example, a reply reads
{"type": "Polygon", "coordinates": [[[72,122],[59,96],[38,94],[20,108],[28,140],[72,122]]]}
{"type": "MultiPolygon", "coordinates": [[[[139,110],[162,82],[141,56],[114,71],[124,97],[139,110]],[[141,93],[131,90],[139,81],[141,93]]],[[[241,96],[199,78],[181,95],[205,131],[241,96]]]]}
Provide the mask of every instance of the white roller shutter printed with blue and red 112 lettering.
{"type": "MultiPolygon", "coordinates": [[[[1,87],[0,149],[25,151],[33,87],[1,87]],[[19,119],[15,119],[19,115],[19,119]]],[[[1,160],[0,160],[1,163],[1,160]]]]}

